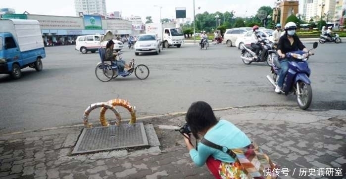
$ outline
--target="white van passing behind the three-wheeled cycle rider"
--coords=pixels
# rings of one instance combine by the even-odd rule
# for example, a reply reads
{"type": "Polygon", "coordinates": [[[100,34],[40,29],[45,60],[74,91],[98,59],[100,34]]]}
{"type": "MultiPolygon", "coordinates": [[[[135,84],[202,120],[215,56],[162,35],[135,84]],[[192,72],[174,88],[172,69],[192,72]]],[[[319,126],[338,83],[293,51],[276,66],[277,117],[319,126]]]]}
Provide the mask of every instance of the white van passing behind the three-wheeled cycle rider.
{"type": "MultiPolygon", "coordinates": [[[[86,35],[86,36],[78,36],[76,39],[76,50],[79,50],[82,53],[87,53],[91,51],[95,53],[99,47],[106,47],[107,42],[103,42],[100,44],[100,39],[102,35],[86,35]]],[[[124,44],[121,41],[117,41],[113,39],[114,42],[114,50],[120,51],[124,48],[124,44]]]]}

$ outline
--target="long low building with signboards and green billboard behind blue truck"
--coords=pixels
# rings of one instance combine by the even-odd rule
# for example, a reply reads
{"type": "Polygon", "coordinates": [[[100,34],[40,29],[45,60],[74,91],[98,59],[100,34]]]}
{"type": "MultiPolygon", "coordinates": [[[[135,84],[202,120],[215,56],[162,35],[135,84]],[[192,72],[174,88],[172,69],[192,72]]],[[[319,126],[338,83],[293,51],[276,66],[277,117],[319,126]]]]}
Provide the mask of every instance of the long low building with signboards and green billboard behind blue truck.
{"type": "Polygon", "coordinates": [[[130,21],[123,19],[104,19],[102,16],[96,15],[70,17],[35,14],[3,14],[2,18],[38,20],[44,42],[52,42],[57,45],[64,45],[64,43],[72,42],[77,36],[104,34],[108,30],[114,35],[132,34],[132,23],[130,21]]]}

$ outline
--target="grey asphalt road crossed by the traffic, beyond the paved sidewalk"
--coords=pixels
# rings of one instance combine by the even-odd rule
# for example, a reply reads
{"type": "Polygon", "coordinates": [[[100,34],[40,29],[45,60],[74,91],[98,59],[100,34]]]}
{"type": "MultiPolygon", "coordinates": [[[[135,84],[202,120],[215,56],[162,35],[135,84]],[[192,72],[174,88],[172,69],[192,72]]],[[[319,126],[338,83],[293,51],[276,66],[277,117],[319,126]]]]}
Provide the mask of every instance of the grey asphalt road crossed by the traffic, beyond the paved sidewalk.
{"type": "MultiPolygon", "coordinates": [[[[312,47],[312,44],[306,44],[312,47]]],[[[313,99],[309,110],[346,110],[346,45],[319,44],[309,60],[313,99]]],[[[84,110],[92,103],[127,99],[137,116],[186,111],[204,100],[214,108],[256,105],[297,107],[294,95],[278,95],[266,80],[265,63],[245,65],[236,47],[196,45],[164,49],[159,55],[135,56],[124,49],[123,59],[146,64],[150,75],[135,75],[100,82],[95,76],[98,53],[81,54],[74,46],[46,48],[44,70],[23,69],[19,80],[0,75],[0,134],[82,124],[84,110]]],[[[119,108],[123,118],[126,110],[119,108]]],[[[99,109],[90,115],[97,122],[99,109]]],[[[114,115],[107,111],[107,118],[114,115]]]]}

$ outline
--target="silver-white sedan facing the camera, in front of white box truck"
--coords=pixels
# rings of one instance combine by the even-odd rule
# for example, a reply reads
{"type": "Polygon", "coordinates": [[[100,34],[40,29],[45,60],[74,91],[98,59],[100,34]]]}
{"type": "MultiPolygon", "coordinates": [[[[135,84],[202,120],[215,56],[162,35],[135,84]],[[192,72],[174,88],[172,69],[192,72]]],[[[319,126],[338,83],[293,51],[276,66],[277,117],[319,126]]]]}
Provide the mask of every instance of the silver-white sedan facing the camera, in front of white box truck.
{"type": "Polygon", "coordinates": [[[161,41],[156,38],[156,35],[143,34],[141,35],[135,44],[135,55],[140,53],[155,53],[161,52],[161,41]]]}

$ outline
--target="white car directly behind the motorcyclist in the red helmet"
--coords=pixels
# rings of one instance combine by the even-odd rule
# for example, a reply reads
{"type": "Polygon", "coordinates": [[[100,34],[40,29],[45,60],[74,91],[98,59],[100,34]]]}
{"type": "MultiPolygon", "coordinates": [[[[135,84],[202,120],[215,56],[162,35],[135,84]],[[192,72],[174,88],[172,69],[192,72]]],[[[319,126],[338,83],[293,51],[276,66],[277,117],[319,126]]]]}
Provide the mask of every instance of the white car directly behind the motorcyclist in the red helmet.
{"type": "MultiPolygon", "coordinates": [[[[238,46],[238,49],[243,49],[243,44],[251,44],[251,35],[253,31],[247,31],[243,36],[238,37],[236,40],[235,45],[238,46]]],[[[270,42],[273,42],[273,30],[271,29],[259,29],[258,34],[261,36],[261,38],[266,38],[270,42]]]]}

